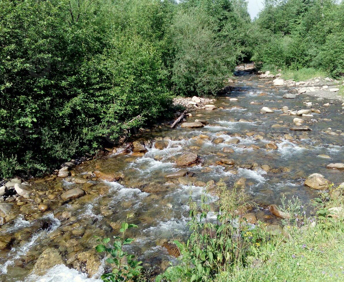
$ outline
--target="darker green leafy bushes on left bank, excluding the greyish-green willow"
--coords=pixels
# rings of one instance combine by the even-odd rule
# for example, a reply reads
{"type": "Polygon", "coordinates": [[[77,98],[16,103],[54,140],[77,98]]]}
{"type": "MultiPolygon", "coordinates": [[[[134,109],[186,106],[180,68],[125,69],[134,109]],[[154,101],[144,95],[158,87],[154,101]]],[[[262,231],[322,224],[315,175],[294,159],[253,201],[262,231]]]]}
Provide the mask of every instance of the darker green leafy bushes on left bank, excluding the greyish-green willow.
{"type": "Polygon", "coordinates": [[[0,4],[0,146],[9,160],[0,177],[94,152],[171,103],[159,49],[132,27],[118,32],[111,3],[73,3],[73,12],[60,0],[0,4]]]}

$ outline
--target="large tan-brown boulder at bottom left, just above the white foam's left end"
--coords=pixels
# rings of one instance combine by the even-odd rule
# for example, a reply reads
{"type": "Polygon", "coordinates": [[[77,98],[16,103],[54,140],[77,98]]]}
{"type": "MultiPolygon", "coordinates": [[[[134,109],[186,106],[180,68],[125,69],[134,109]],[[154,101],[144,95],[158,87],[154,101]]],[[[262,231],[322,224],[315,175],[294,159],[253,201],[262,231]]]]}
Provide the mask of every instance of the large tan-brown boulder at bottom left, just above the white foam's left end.
{"type": "Polygon", "coordinates": [[[45,249],[37,259],[32,272],[36,275],[43,275],[47,269],[55,265],[63,265],[60,252],[54,248],[45,249]]]}

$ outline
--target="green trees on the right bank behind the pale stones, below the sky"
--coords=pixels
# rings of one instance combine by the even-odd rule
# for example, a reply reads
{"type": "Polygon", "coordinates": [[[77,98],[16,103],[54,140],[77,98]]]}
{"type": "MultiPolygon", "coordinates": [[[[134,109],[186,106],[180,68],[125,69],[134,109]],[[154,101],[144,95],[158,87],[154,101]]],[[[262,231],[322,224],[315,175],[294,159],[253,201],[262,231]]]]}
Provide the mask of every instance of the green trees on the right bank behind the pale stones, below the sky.
{"type": "Polygon", "coordinates": [[[254,25],[259,35],[252,58],[256,63],[344,75],[343,2],[266,0],[254,25]]]}

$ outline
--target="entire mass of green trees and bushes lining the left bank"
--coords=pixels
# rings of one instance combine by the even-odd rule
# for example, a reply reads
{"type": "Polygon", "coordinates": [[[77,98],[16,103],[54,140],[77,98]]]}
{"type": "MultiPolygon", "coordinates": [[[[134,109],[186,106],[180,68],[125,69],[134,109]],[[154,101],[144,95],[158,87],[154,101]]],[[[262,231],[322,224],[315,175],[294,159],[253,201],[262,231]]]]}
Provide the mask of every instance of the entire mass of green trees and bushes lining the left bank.
{"type": "Polygon", "coordinates": [[[3,0],[0,15],[0,177],[116,143],[249,57],[244,1],[3,0]]]}

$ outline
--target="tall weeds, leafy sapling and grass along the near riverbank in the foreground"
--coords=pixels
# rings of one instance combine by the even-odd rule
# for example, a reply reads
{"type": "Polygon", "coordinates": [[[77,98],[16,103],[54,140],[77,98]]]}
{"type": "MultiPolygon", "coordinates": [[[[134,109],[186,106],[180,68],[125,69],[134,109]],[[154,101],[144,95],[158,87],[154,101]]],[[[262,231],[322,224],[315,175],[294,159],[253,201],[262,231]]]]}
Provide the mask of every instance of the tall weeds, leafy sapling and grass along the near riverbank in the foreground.
{"type": "MultiPolygon", "coordinates": [[[[179,263],[171,265],[155,281],[343,281],[344,187],[331,185],[330,194],[323,193],[308,207],[298,198],[282,199],[282,226],[247,224],[245,213],[254,208],[254,202],[248,202],[243,191],[228,190],[222,180],[217,184],[219,200],[212,210],[207,187],[200,206],[190,196],[189,239],[186,243],[173,241],[181,253],[179,263]],[[306,212],[310,209],[314,209],[311,215],[306,212]]],[[[126,226],[130,227],[125,224],[121,233],[126,226]]],[[[118,242],[132,240],[116,238],[118,242]]],[[[107,248],[108,241],[101,241],[103,244],[97,250],[118,256],[117,252],[112,254],[115,249],[121,251],[119,243],[114,244],[115,248],[107,248]]],[[[116,267],[102,279],[117,281],[106,280],[118,273],[116,261],[108,262],[116,267]]],[[[126,269],[127,273],[138,264],[126,269]]],[[[144,279],[138,273],[130,281],[144,279]]]]}

